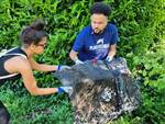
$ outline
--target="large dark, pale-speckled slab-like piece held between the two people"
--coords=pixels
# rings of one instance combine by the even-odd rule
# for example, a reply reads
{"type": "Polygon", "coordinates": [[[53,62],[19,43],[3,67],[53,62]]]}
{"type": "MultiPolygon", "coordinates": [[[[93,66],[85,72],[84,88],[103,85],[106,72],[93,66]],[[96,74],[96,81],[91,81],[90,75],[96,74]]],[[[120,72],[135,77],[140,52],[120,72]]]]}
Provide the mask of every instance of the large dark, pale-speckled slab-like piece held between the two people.
{"type": "Polygon", "coordinates": [[[76,124],[106,124],[141,103],[141,93],[124,58],[111,63],[90,60],[57,71],[63,86],[73,86],[70,97],[76,124]]]}

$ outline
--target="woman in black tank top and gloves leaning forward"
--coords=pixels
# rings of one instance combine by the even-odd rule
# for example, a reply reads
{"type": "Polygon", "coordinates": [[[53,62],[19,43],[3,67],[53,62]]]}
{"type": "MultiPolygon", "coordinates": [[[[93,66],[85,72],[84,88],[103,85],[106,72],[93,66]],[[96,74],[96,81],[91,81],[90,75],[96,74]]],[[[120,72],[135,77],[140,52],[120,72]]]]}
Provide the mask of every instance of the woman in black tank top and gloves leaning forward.
{"type": "MultiPolygon", "coordinates": [[[[44,52],[47,43],[47,33],[44,31],[43,21],[38,20],[23,30],[20,35],[22,46],[0,55],[0,84],[4,80],[15,78],[19,75],[23,78],[23,82],[28,91],[33,95],[45,95],[55,92],[72,93],[72,87],[59,88],[38,88],[32,70],[40,71],[61,71],[69,68],[68,66],[44,65],[37,64],[33,56],[44,52]]],[[[9,123],[9,112],[0,101],[0,124],[9,123]],[[1,123],[2,122],[2,123],[1,123]]]]}

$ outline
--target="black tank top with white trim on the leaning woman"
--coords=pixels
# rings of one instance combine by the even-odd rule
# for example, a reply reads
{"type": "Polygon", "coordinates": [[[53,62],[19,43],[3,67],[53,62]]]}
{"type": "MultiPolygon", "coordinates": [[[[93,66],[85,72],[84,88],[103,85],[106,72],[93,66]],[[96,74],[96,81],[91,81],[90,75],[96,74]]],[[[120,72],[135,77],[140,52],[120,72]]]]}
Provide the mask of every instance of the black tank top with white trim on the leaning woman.
{"type": "Polygon", "coordinates": [[[7,79],[15,79],[20,77],[20,74],[10,74],[4,69],[4,63],[15,56],[28,57],[25,52],[23,52],[20,47],[8,50],[6,54],[0,55],[0,82],[7,79]]]}

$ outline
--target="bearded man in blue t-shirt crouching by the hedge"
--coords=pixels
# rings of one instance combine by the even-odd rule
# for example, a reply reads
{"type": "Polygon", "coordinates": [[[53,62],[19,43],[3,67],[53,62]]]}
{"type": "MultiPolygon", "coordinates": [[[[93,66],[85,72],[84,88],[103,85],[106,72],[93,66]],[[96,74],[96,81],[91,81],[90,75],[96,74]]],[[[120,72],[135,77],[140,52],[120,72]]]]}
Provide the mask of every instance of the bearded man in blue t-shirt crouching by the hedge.
{"type": "Polygon", "coordinates": [[[69,54],[76,64],[91,59],[112,60],[117,53],[118,30],[108,23],[110,11],[110,7],[102,2],[96,2],[90,8],[91,24],[77,35],[69,54]]]}

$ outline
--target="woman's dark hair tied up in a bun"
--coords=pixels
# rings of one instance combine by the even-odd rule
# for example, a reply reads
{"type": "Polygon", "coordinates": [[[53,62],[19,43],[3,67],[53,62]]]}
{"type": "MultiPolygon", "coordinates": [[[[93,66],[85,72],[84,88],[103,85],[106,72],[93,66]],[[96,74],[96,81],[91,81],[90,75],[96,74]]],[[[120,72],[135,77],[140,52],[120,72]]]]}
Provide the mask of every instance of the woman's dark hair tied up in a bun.
{"type": "Polygon", "coordinates": [[[22,33],[20,34],[21,42],[23,42],[23,44],[26,45],[31,45],[32,43],[37,45],[44,36],[48,36],[44,27],[44,21],[37,19],[35,22],[33,22],[31,25],[29,25],[22,31],[22,33]]]}

